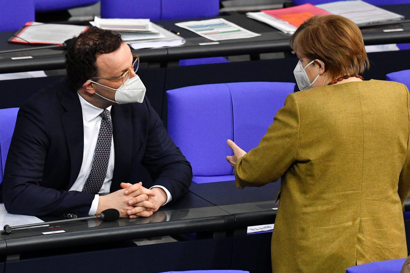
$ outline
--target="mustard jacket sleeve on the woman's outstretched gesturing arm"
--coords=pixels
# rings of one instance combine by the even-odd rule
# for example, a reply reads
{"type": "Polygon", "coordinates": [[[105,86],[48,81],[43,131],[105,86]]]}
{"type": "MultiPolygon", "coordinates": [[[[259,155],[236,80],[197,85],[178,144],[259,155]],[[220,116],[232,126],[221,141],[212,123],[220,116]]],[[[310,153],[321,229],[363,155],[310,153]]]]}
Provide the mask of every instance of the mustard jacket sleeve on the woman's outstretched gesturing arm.
{"type": "Polygon", "coordinates": [[[237,187],[260,187],[278,180],[295,161],[299,127],[298,104],[294,94],[290,94],[259,145],[237,161],[237,187]]]}

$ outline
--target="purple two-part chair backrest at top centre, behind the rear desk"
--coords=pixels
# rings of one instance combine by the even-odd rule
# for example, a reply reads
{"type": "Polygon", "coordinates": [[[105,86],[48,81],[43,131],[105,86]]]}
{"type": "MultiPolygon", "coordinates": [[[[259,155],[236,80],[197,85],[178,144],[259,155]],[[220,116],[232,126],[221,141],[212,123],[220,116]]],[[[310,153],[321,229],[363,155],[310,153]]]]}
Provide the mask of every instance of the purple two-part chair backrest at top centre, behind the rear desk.
{"type": "Polygon", "coordinates": [[[174,20],[219,14],[219,0],[101,0],[101,18],[174,20]]]}

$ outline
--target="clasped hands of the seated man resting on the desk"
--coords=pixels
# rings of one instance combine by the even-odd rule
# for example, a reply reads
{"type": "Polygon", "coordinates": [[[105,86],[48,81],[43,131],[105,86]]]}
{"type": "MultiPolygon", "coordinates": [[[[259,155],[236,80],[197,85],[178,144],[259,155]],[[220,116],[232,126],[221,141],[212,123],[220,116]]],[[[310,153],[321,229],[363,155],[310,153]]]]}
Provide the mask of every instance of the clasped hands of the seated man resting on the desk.
{"type": "Polygon", "coordinates": [[[149,217],[167,200],[165,191],[160,187],[147,189],[142,182],[121,183],[121,187],[121,190],[99,197],[97,214],[107,208],[115,208],[120,217],[149,217]]]}

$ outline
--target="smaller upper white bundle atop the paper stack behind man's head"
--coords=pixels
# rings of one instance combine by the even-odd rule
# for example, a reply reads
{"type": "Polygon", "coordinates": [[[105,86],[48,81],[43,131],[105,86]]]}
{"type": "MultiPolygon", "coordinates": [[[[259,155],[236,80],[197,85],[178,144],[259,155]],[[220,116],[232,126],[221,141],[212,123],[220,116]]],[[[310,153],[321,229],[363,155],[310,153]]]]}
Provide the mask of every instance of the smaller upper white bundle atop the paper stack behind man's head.
{"type": "Polygon", "coordinates": [[[150,19],[101,19],[95,16],[94,21],[91,21],[90,24],[102,29],[116,31],[156,32],[150,19]]]}

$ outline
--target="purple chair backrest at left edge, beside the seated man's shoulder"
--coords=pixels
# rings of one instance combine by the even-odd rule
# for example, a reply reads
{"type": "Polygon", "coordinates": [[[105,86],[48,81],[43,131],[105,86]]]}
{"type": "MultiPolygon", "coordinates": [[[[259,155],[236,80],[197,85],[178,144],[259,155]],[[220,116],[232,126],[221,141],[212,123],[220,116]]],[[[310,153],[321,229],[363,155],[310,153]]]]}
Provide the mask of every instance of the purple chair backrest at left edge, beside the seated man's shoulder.
{"type": "Polygon", "coordinates": [[[4,166],[9,151],[11,137],[16,125],[18,108],[0,109],[0,183],[3,181],[4,166]]]}

